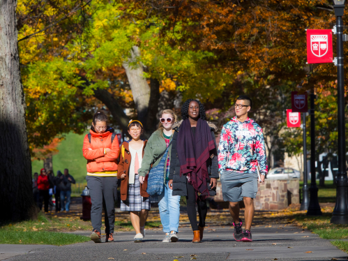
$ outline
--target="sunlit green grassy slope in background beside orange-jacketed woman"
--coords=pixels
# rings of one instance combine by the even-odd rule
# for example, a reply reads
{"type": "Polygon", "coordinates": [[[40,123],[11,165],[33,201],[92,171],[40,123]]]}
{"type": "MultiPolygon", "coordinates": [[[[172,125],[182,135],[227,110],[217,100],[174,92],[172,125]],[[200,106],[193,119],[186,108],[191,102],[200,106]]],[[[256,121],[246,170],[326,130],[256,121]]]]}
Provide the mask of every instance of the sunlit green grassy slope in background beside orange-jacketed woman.
{"type": "MultiPolygon", "coordinates": [[[[86,133],[84,135],[86,135],[86,133]]],[[[63,173],[64,169],[67,168],[76,182],[86,181],[87,161],[84,156],[82,156],[84,135],[69,133],[66,135],[66,139],[59,144],[59,153],[52,158],[54,176],[57,170],[63,173]]],[[[43,161],[32,161],[31,167],[33,173],[38,172],[40,174],[40,169],[43,168],[43,161]]]]}

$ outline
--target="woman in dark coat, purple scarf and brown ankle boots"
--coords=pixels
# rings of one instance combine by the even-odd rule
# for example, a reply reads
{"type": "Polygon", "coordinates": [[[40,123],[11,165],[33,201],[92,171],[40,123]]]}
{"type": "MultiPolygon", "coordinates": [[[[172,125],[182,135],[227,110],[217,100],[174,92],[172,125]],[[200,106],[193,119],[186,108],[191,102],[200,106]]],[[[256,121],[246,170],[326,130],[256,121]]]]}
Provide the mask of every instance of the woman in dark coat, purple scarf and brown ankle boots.
{"type": "Polygon", "coordinates": [[[181,107],[182,121],[173,125],[169,188],[173,195],[186,196],[188,218],[193,230],[193,243],[203,239],[206,197],[216,195],[218,152],[214,124],[206,121],[204,106],[198,100],[188,99],[181,107]],[[197,224],[197,211],[199,224],[197,224]]]}

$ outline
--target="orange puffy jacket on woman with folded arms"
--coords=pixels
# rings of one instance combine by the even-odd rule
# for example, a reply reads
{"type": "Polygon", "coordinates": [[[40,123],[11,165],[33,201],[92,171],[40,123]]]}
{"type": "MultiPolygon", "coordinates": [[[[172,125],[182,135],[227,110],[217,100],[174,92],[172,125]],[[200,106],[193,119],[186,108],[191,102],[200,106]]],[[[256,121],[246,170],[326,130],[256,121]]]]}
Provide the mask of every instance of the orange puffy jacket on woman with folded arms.
{"type": "Polygon", "coordinates": [[[84,158],[87,160],[87,172],[110,172],[117,171],[117,158],[119,158],[119,140],[114,138],[111,143],[111,136],[114,130],[107,128],[105,133],[91,133],[91,143],[89,143],[88,134],[84,136],[84,147],[82,148],[84,158]],[[91,150],[89,149],[91,148],[91,150]],[[111,151],[104,155],[104,148],[109,148],[111,151]]]}

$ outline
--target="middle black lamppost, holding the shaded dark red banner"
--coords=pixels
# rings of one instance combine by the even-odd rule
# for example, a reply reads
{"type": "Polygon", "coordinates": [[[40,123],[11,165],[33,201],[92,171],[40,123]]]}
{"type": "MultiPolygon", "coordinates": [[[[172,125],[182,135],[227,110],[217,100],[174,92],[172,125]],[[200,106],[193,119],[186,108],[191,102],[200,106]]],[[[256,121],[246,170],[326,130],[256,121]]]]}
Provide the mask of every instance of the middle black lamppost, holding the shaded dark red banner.
{"type": "Polygon", "coordinates": [[[321,216],[318,201],[317,181],[315,180],[315,94],[310,94],[310,205],[308,216],[321,216]]]}

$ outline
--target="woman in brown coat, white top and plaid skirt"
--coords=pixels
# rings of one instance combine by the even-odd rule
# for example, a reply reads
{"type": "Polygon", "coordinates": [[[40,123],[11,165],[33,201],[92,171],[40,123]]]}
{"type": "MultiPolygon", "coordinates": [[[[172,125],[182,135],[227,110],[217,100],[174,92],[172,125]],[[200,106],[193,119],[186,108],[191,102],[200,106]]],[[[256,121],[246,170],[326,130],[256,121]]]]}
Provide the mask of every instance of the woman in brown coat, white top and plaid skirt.
{"type": "Polygon", "coordinates": [[[128,133],[131,140],[123,142],[117,177],[121,179],[121,211],[130,211],[130,221],[135,229],[135,242],[145,237],[145,223],[151,207],[149,194],[140,184],[138,170],[142,166],[147,140],[140,140],[144,128],[140,121],[130,121],[128,133]]]}

